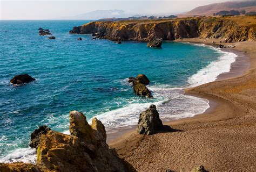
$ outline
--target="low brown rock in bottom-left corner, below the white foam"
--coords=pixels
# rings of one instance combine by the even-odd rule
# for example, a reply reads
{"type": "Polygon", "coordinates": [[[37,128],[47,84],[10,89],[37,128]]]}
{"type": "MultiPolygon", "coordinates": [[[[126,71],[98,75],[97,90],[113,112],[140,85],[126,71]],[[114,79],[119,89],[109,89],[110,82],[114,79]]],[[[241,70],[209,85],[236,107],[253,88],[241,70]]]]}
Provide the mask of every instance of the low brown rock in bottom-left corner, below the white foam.
{"type": "Polygon", "coordinates": [[[15,163],[0,163],[1,172],[11,171],[29,171],[29,172],[41,172],[41,170],[35,164],[15,162],[15,163]]]}

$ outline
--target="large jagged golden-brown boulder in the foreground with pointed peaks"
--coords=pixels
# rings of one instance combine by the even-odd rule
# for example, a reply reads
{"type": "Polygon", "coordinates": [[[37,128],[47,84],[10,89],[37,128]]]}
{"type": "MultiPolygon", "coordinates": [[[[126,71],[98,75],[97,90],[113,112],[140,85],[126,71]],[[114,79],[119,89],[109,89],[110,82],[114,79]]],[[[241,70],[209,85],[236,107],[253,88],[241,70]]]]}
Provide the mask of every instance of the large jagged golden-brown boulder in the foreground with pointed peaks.
{"type": "Polygon", "coordinates": [[[135,171],[106,144],[104,125],[83,113],[70,112],[70,135],[48,131],[37,148],[37,166],[44,171],[135,171]]]}

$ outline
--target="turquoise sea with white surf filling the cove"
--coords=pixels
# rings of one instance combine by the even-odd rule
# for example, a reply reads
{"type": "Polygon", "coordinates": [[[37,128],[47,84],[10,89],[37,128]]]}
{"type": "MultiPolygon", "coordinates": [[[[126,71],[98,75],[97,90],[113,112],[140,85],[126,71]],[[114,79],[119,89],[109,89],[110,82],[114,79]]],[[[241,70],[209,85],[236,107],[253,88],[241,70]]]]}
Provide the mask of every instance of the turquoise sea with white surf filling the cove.
{"type": "Polygon", "coordinates": [[[144,42],[119,45],[68,34],[87,22],[0,21],[0,162],[30,160],[30,133],[38,125],[68,133],[71,110],[84,112],[89,121],[97,116],[110,133],[136,125],[151,103],[166,120],[208,108],[206,99],[184,95],[181,88],[214,81],[223,65],[214,71],[211,65],[227,53],[176,42],[164,42],[160,49],[144,42]],[[39,27],[50,29],[56,40],[39,36],[39,27]],[[25,73],[36,81],[9,83],[25,73]],[[133,94],[127,78],[137,74],[149,77],[154,98],[133,94]]]}

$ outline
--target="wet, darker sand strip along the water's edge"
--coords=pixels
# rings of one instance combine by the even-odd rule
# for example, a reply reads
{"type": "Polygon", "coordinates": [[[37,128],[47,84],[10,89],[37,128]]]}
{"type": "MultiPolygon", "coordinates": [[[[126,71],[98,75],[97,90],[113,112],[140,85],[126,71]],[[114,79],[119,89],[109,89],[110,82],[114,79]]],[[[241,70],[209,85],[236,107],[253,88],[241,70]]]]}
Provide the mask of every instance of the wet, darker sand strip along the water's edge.
{"type": "MultiPolygon", "coordinates": [[[[205,42],[187,42],[185,41],[174,41],[174,42],[183,42],[183,43],[188,43],[188,44],[200,44],[200,45],[207,45],[207,46],[211,46],[212,48],[214,48],[214,46],[212,44],[209,43],[205,43],[205,42]]],[[[222,44],[222,43],[221,43],[222,44]]],[[[230,67],[230,71],[228,71],[227,73],[221,73],[217,76],[217,79],[215,81],[221,81],[221,80],[227,80],[230,78],[234,78],[234,77],[239,77],[242,76],[246,73],[246,71],[250,68],[250,58],[248,55],[246,55],[243,52],[240,52],[234,48],[221,48],[220,51],[222,52],[228,52],[228,53],[234,53],[237,55],[237,57],[235,58],[235,62],[231,63],[231,67],[230,67]],[[242,64],[241,64],[242,63],[242,64]]],[[[213,81],[214,82],[214,81],[213,81]]],[[[187,88],[190,89],[190,88],[187,88]]],[[[190,96],[194,96],[194,97],[199,97],[199,98],[205,98],[202,97],[201,95],[198,94],[191,94],[186,92],[187,89],[184,89],[185,93],[184,95],[190,95],[190,96]]],[[[206,113],[210,113],[212,111],[214,111],[214,109],[216,107],[218,107],[219,103],[216,102],[213,99],[208,99],[209,101],[209,106],[208,109],[206,109],[205,112],[200,113],[200,114],[206,114],[206,113]]],[[[193,117],[196,117],[200,114],[195,114],[193,117]]],[[[168,125],[168,124],[172,124],[174,121],[179,121],[179,120],[186,120],[186,119],[190,119],[193,117],[185,117],[185,118],[179,118],[179,119],[173,119],[173,120],[163,120],[163,124],[168,125]]],[[[111,142],[113,142],[115,139],[118,139],[120,137],[122,137],[122,135],[127,134],[127,133],[131,133],[132,131],[135,131],[137,129],[136,125],[132,125],[130,128],[122,128],[117,132],[114,133],[109,133],[107,134],[107,143],[111,144],[111,142]]]]}

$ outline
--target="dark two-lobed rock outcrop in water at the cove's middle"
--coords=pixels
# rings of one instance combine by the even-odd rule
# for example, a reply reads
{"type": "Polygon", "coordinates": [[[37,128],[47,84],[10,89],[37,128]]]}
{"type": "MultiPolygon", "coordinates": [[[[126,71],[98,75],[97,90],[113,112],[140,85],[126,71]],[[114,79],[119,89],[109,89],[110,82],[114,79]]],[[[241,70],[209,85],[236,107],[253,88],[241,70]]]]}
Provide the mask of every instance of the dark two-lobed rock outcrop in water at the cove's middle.
{"type": "Polygon", "coordinates": [[[146,87],[150,83],[149,78],[144,74],[139,74],[137,77],[129,77],[129,83],[133,85],[133,91],[138,96],[147,96],[152,98],[151,91],[146,87]]]}

